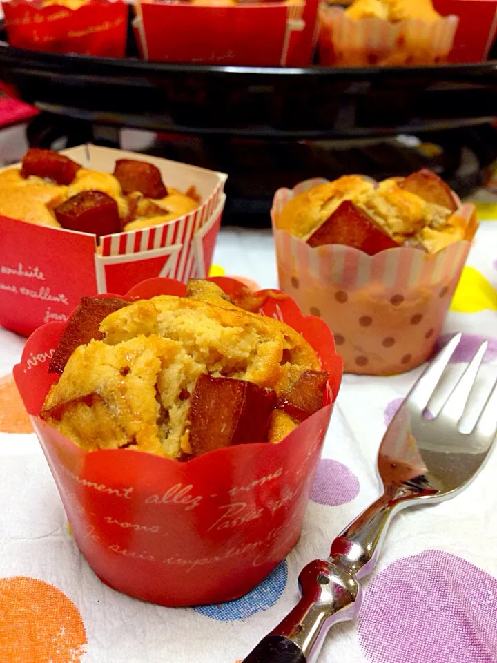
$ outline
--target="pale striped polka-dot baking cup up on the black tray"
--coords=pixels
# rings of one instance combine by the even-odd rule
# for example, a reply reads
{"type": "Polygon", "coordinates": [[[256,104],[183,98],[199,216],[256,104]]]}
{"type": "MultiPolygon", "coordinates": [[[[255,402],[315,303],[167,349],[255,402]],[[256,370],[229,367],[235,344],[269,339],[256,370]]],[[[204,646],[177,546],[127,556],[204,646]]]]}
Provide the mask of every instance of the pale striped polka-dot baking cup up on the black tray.
{"type": "Polygon", "coordinates": [[[457,16],[433,23],[374,17],[351,19],[338,7],[321,3],[320,61],[333,66],[420,65],[447,60],[458,27],[457,16]]]}

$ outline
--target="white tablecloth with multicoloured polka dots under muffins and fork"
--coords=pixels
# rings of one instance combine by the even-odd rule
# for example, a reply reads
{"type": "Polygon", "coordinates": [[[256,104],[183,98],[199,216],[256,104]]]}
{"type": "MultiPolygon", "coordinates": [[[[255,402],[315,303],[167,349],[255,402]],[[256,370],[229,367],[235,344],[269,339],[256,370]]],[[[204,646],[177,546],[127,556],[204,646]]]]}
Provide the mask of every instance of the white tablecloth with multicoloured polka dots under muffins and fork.
{"type": "MultiPolygon", "coordinates": [[[[215,262],[274,287],[271,234],[223,229],[215,262]]],[[[497,374],[497,223],[478,231],[447,335],[463,341],[457,374],[490,338],[497,374]]],[[[298,599],[300,569],[379,492],[378,445],[420,369],[345,376],[302,538],[237,601],[162,608],[120,595],[92,573],[68,531],[55,483],[9,374],[23,339],[0,330],[0,663],[235,663],[298,599]]],[[[497,454],[454,499],[394,521],[359,619],[337,626],[322,663],[497,662],[497,454]]]]}

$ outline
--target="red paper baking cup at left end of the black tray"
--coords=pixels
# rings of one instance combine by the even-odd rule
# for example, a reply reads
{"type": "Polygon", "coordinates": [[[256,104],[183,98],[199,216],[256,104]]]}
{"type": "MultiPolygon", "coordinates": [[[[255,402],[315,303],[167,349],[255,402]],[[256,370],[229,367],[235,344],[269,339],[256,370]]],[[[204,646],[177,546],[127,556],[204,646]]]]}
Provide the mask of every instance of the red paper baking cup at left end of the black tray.
{"type": "Polygon", "coordinates": [[[121,0],[88,0],[72,10],[43,0],[2,3],[10,46],[56,53],[124,57],[128,6],[121,0]]]}

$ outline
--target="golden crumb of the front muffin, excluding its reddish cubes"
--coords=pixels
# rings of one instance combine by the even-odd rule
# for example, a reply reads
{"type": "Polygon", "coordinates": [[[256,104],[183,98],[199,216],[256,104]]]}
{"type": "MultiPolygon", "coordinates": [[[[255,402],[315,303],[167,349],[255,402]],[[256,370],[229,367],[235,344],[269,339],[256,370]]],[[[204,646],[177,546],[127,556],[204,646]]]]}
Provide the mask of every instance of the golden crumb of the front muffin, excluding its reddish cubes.
{"type": "MultiPolygon", "coordinates": [[[[311,345],[289,325],[237,307],[211,282],[190,282],[186,297],[125,305],[101,321],[99,332],[99,340],[72,352],[41,413],[86,450],[130,447],[171,459],[197,455],[192,408],[201,376],[226,387],[224,394],[233,387],[236,397],[242,384],[251,383],[264,407],[266,396],[288,396],[302,376],[321,376],[316,409],[322,406],[327,374],[320,373],[311,345]]],[[[202,385],[202,394],[212,386],[202,385]]],[[[231,405],[224,401],[207,405],[233,423],[231,413],[221,412],[231,405]]],[[[283,410],[273,418],[271,403],[266,439],[279,441],[297,422],[283,410]]],[[[255,408],[253,418],[258,416],[255,408]]]]}

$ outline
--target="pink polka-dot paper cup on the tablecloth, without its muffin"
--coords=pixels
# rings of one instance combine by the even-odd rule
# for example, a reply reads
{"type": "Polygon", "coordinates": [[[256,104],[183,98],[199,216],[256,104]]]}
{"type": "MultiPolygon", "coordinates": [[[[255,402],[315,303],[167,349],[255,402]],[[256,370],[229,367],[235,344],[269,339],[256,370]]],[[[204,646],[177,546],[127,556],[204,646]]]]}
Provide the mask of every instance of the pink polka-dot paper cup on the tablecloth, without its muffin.
{"type": "MultiPolygon", "coordinates": [[[[280,288],[305,314],[329,325],[345,372],[409,371],[433,352],[471,242],[454,242],[435,254],[398,247],[368,256],[341,244],[309,247],[277,229],[286,202],[325,181],[275,193],[271,218],[280,288]]],[[[476,224],[474,205],[459,213],[476,224]]]]}

